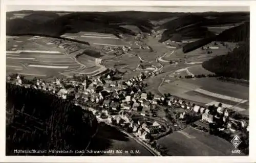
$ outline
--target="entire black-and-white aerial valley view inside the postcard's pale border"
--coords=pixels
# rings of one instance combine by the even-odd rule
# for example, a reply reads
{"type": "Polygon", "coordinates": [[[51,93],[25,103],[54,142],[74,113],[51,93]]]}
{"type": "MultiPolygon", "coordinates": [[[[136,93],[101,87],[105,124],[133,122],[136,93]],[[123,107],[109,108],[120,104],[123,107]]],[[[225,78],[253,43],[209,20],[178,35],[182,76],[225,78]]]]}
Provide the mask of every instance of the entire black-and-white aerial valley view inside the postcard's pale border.
{"type": "Polygon", "coordinates": [[[7,6],[7,156],[248,156],[249,7],[7,6]]]}

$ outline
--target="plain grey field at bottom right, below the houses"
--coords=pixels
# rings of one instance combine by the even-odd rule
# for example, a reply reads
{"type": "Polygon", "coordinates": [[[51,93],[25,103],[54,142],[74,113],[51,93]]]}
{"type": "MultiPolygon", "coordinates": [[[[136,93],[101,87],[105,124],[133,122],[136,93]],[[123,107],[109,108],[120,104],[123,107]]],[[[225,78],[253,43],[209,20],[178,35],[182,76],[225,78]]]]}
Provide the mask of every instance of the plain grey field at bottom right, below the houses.
{"type": "MultiPolygon", "coordinates": [[[[223,138],[187,127],[158,140],[171,156],[230,156],[234,147],[223,138]]],[[[244,154],[241,154],[244,155],[244,154]]]]}

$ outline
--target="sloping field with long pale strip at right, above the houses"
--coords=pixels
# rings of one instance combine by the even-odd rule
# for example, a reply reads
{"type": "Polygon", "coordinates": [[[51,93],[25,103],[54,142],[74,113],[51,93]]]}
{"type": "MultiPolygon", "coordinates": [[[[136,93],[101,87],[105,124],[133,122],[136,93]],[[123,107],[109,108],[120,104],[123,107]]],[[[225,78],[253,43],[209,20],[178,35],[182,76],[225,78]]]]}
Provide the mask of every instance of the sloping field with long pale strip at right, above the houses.
{"type": "Polygon", "coordinates": [[[215,102],[227,107],[235,106],[232,107],[234,110],[248,115],[249,88],[246,86],[222,82],[216,78],[166,79],[169,83],[164,82],[159,88],[162,94],[170,93],[202,105],[215,102]]]}

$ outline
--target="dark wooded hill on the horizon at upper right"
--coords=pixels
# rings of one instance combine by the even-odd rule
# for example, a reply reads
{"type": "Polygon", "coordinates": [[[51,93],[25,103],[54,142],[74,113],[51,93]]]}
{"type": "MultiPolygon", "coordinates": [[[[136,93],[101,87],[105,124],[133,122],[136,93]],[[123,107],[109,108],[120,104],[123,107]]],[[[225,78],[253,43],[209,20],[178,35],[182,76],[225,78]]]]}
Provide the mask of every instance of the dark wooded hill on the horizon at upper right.
{"type": "Polygon", "coordinates": [[[190,15],[183,14],[176,19],[165,22],[163,25],[157,28],[157,30],[165,29],[159,42],[164,42],[168,39],[173,41],[179,41],[179,39],[182,40],[190,38],[212,37],[215,34],[208,31],[207,27],[230,24],[236,25],[244,21],[249,21],[248,13],[193,13],[190,15]],[[211,18],[205,17],[206,14],[208,14],[208,17],[211,18]]]}

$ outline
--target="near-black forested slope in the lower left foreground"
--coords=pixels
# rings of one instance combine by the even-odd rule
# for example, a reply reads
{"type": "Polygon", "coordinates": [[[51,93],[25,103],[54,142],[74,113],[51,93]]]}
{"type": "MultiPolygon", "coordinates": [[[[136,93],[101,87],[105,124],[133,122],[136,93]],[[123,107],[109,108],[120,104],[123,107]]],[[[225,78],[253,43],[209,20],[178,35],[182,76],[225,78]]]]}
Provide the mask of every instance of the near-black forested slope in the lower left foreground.
{"type": "Polygon", "coordinates": [[[82,150],[98,125],[91,111],[10,83],[6,83],[6,111],[6,155],[16,155],[13,149],[47,150],[44,155],[65,155],[48,153],[48,149],[82,150]]]}

